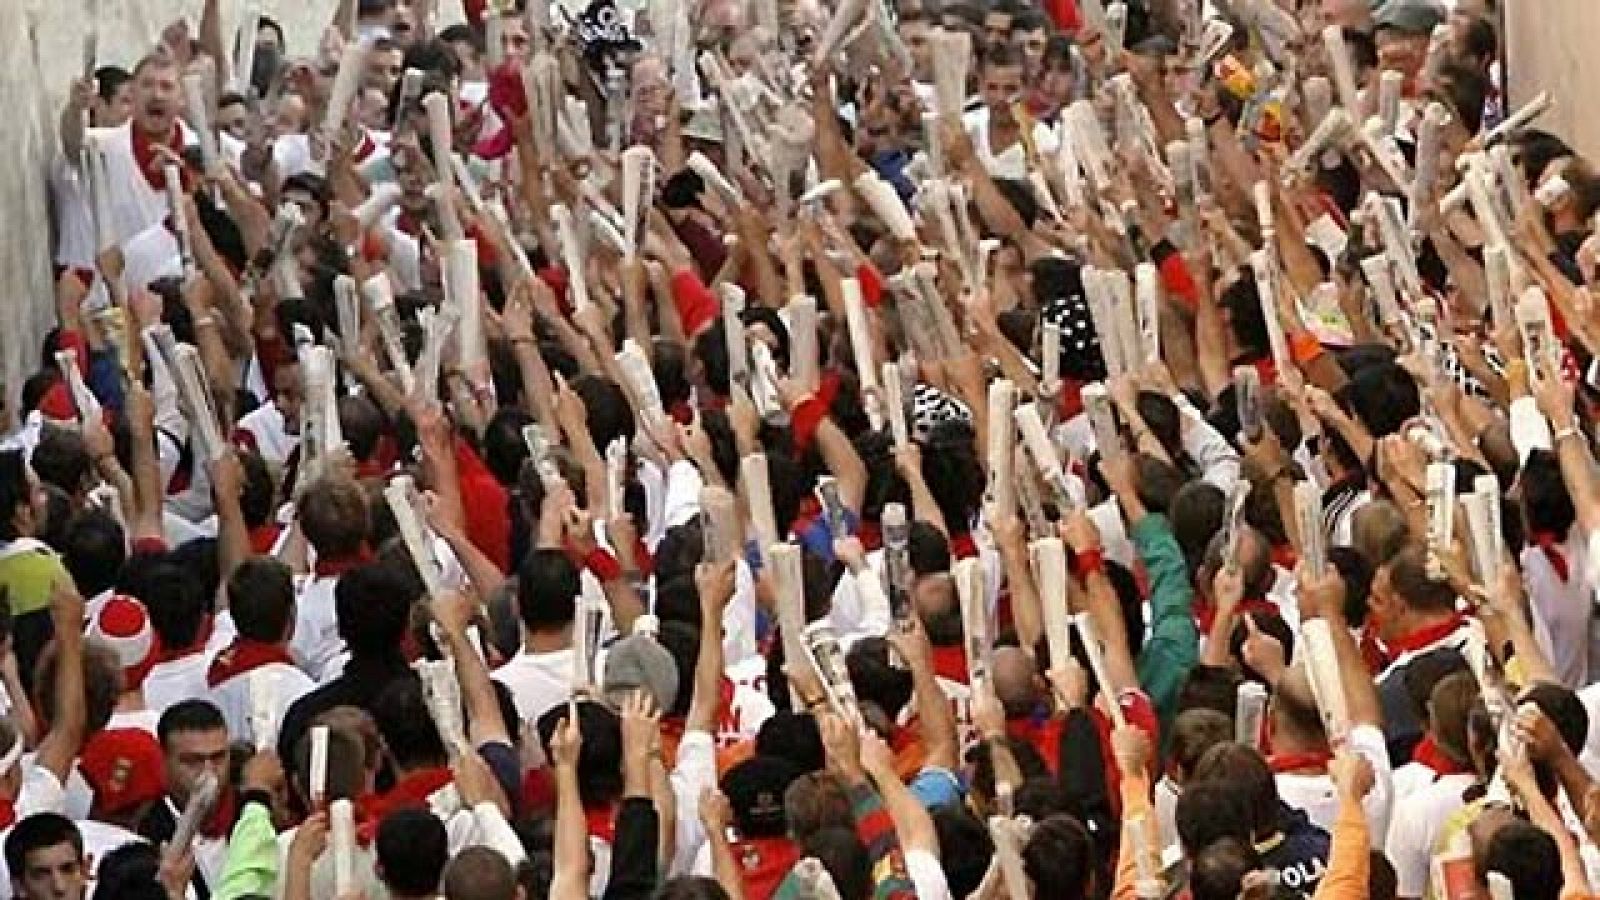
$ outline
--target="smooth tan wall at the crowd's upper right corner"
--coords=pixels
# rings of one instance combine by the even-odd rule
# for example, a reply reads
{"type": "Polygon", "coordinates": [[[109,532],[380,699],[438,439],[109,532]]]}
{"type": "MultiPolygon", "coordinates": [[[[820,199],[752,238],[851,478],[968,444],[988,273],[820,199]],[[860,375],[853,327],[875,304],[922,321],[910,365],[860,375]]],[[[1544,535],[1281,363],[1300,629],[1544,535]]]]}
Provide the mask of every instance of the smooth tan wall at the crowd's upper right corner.
{"type": "Polygon", "coordinates": [[[1502,0],[1510,102],[1542,90],[1542,125],[1600,160],[1600,0],[1502,0]]]}

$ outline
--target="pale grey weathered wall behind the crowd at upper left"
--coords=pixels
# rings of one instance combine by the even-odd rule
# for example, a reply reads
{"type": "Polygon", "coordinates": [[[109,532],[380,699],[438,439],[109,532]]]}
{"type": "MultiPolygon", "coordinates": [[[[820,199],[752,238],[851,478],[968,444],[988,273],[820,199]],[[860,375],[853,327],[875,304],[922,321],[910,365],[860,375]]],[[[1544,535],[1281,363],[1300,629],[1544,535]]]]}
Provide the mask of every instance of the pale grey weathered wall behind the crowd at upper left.
{"type": "MultiPolygon", "coordinates": [[[[245,0],[221,0],[232,34],[245,0]]],[[[8,407],[34,372],[42,335],[54,325],[50,282],[46,176],[56,154],[54,120],[78,77],[83,35],[99,34],[101,64],[128,66],[155,45],[165,24],[202,0],[0,0],[0,384],[8,407]],[[98,10],[98,13],[91,13],[98,10]]],[[[291,53],[315,48],[336,0],[262,0],[283,24],[291,53]]],[[[440,21],[459,21],[461,2],[440,0],[440,21]]]]}

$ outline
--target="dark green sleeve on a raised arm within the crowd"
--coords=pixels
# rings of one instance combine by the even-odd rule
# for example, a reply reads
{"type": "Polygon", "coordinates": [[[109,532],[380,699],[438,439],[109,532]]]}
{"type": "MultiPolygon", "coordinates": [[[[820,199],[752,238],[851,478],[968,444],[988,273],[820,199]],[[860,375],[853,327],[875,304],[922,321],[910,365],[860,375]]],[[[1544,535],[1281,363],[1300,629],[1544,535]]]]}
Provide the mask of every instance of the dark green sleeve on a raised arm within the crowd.
{"type": "Polygon", "coordinates": [[[1134,669],[1162,721],[1162,735],[1166,735],[1178,713],[1178,695],[1200,650],[1192,610],[1194,586],[1166,516],[1146,516],[1133,527],[1131,536],[1150,580],[1150,628],[1134,669]]]}

